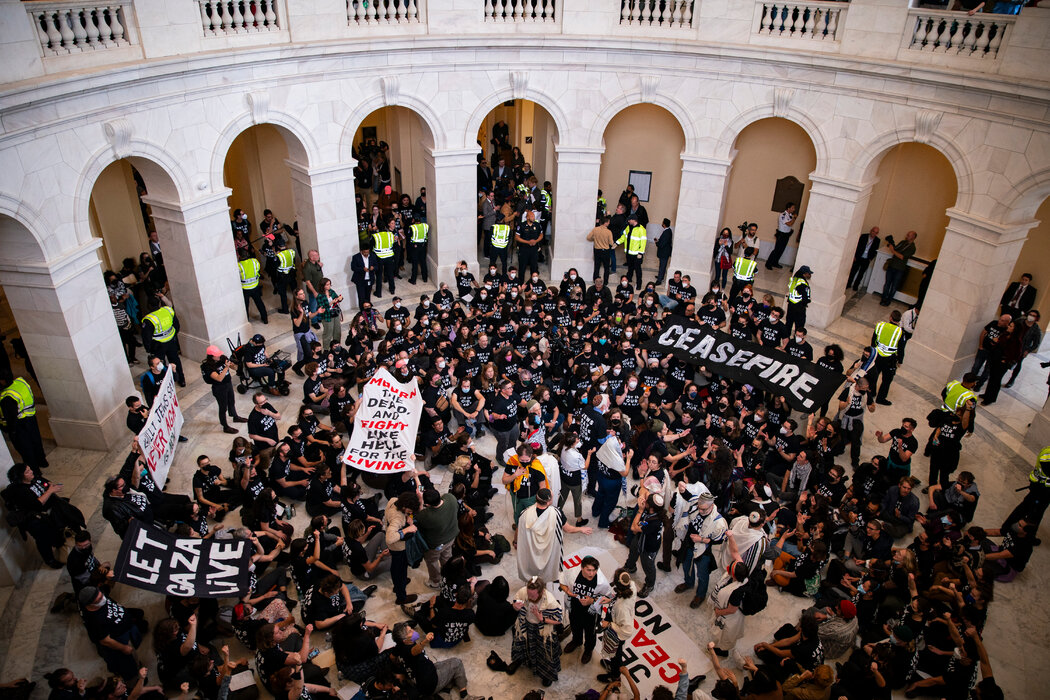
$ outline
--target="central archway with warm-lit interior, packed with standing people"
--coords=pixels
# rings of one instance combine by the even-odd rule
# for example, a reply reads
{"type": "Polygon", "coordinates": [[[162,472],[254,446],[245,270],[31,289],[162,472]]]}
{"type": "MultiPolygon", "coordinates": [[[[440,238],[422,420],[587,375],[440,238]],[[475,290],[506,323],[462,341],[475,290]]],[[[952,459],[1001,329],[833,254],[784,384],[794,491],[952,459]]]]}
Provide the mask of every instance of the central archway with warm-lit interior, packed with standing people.
{"type": "MultiPolygon", "coordinates": [[[[542,105],[531,100],[509,100],[488,112],[478,128],[478,258],[497,257],[489,248],[492,221],[513,227],[533,209],[544,242],[537,254],[549,273],[550,242],[554,235],[554,187],[558,183],[558,124],[542,105]],[[532,179],[534,178],[534,184],[532,179]],[[492,204],[485,205],[487,192],[492,204]],[[532,203],[531,205],[529,203],[532,203]],[[486,210],[495,211],[486,217],[486,210]],[[495,216],[495,218],[494,218],[495,216]]],[[[512,239],[512,238],[511,238],[512,239]]],[[[511,246],[512,248],[513,246],[511,246]]],[[[518,266],[508,258],[508,266],[518,266]]],[[[521,271],[524,276],[526,271],[521,271]]],[[[546,275],[546,276],[549,276],[546,275]]]]}

